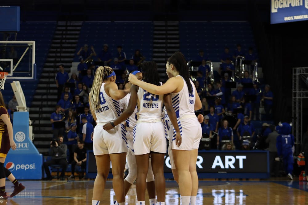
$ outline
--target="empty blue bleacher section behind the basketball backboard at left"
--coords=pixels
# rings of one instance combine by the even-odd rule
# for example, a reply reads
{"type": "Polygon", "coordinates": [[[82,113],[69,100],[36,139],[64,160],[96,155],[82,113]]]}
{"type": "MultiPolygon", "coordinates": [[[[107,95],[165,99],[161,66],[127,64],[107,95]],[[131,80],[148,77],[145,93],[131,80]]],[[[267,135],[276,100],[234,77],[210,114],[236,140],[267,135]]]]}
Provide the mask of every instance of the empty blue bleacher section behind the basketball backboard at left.
{"type": "MultiPolygon", "coordinates": [[[[56,28],[56,22],[21,22],[20,31],[17,34],[16,41],[35,41],[35,63],[37,68],[37,79],[40,78],[44,63],[47,58],[48,50],[51,45],[51,40],[56,28]]],[[[9,41],[14,40],[14,35],[9,38],[9,41]]],[[[25,47],[15,47],[18,57],[22,55],[25,47]]],[[[29,71],[29,52],[23,57],[23,60],[18,65],[15,71],[29,71]]],[[[22,77],[22,73],[14,76],[22,77]]],[[[30,107],[35,89],[38,84],[36,81],[21,81],[23,93],[26,98],[27,107],[30,107]]],[[[2,91],[5,103],[7,104],[12,99],[13,91],[10,81],[6,81],[5,90],[2,91]]]]}

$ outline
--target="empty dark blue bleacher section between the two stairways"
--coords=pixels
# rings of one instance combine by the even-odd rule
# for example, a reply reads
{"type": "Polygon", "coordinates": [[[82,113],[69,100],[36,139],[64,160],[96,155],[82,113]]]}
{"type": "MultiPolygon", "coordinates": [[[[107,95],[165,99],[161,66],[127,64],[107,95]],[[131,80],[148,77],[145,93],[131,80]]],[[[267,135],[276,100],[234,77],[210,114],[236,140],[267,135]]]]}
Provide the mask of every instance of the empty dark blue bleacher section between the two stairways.
{"type": "Polygon", "coordinates": [[[88,44],[89,49],[93,45],[99,56],[105,43],[113,57],[117,46],[122,45],[127,59],[132,57],[136,49],[140,49],[146,61],[152,60],[153,30],[152,22],[84,22],[74,62],[79,61],[77,52],[84,44],[88,44]]]}

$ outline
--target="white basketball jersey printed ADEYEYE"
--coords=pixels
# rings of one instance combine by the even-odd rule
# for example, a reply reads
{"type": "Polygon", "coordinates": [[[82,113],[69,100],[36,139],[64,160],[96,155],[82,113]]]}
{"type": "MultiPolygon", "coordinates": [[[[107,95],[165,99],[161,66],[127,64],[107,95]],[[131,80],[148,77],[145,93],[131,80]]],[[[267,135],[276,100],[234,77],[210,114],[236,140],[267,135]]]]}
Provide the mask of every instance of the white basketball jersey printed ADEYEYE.
{"type": "Polygon", "coordinates": [[[137,95],[137,123],[161,121],[163,95],[153,95],[142,88],[138,89],[137,95]]]}

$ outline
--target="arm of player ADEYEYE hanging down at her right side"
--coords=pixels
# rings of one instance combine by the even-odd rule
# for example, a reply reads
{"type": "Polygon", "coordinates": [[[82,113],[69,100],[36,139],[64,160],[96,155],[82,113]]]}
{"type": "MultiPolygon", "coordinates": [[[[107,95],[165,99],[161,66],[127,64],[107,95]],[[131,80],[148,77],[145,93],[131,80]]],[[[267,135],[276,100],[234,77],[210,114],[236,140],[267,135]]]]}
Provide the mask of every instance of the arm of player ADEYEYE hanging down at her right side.
{"type": "Polygon", "coordinates": [[[173,125],[173,128],[176,131],[176,144],[177,146],[180,146],[182,143],[182,136],[180,134],[180,128],[179,124],[176,119],[176,114],[174,112],[174,109],[172,107],[172,101],[171,101],[171,95],[169,94],[164,94],[164,105],[166,108],[166,111],[168,113],[169,119],[173,125]]]}

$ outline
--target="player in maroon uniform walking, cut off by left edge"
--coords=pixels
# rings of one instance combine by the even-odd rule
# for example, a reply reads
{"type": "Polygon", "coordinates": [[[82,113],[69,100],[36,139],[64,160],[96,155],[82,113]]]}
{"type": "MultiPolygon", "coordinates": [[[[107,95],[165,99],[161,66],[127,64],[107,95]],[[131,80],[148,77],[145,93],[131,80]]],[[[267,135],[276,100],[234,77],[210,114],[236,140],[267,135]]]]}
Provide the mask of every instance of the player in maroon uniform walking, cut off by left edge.
{"type": "Polygon", "coordinates": [[[6,177],[14,184],[14,191],[10,197],[15,196],[25,189],[14,175],[4,167],[5,158],[10,148],[13,150],[16,149],[16,144],[13,139],[13,126],[4,105],[3,96],[0,92],[0,199],[7,199],[5,192],[6,177]]]}

